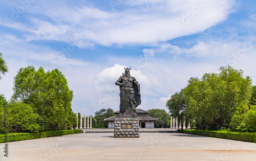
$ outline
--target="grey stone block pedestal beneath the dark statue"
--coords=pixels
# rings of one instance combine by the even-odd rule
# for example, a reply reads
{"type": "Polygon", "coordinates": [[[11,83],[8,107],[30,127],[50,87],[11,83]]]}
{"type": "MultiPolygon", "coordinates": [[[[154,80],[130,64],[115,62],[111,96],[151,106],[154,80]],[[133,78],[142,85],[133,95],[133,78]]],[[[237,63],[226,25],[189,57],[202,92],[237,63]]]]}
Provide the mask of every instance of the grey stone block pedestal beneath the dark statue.
{"type": "Polygon", "coordinates": [[[114,137],[140,137],[139,118],[116,118],[114,123],[114,137]]]}

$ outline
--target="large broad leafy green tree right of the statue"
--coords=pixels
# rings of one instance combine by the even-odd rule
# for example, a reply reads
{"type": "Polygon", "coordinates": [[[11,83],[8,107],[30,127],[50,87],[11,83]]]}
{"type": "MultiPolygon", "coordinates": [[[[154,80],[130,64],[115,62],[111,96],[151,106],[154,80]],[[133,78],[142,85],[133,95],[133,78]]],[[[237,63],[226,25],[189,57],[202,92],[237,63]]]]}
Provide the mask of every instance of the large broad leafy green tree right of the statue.
{"type": "Polygon", "coordinates": [[[190,78],[184,88],[186,112],[195,118],[197,128],[228,127],[234,111],[250,97],[250,85],[250,77],[230,66],[202,79],[190,78]]]}

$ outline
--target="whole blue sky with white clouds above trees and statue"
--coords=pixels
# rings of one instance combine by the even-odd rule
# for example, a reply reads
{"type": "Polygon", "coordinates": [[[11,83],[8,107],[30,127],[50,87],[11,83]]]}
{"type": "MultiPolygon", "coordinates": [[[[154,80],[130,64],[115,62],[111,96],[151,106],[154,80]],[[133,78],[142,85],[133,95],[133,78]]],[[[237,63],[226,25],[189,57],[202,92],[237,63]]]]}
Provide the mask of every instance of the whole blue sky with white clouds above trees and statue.
{"type": "MultiPolygon", "coordinates": [[[[115,81],[131,67],[141,85],[138,108],[165,102],[190,77],[228,64],[255,82],[255,1],[1,1],[0,52],[12,96],[21,67],[58,68],[74,91],[72,109],[94,116],[119,109],[115,81]]],[[[253,85],[255,85],[253,83],[253,85]]]]}

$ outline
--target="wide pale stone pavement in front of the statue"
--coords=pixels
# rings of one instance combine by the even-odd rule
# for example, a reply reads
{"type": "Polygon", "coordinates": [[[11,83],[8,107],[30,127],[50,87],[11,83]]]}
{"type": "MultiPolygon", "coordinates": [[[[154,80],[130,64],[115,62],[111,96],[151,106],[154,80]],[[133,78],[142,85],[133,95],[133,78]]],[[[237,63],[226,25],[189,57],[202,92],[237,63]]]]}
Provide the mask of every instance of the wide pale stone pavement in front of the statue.
{"type": "Polygon", "coordinates": [[[0,160],[256,160],[256,144],[183,133],[79,133],[8,143],[0,160]]]}

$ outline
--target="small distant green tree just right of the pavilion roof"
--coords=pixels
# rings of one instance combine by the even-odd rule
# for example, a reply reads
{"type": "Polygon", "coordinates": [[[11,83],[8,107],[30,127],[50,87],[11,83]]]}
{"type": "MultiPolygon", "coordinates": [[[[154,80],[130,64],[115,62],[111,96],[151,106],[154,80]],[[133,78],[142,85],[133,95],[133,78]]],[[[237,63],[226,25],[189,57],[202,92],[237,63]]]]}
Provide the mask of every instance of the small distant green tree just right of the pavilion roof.
{"type": "Polygon", "coordinates": [[[148,116],[157,118],[158,121],[155,122],[156,128],[167,128],[169,127],[168,120],[169,114],[164,109],[149,109],[148,116]]]}

